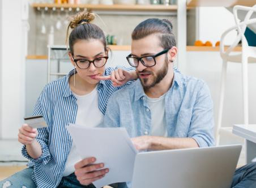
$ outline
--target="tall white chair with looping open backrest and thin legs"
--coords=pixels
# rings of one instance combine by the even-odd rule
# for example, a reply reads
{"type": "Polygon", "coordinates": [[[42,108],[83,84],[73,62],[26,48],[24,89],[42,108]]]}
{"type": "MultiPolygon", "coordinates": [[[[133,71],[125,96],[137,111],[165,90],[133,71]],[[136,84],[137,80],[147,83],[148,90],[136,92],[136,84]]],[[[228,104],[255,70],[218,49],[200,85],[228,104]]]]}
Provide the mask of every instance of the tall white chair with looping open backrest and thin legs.
{"type": "Polygon", "coordinates": [[[249,24],[256,24],[256,18],[252,19],[251,15],[256,12],[256,5],[253,7],[245,6],[234,6],[233,15],[236,25],[229,28],[223,33],[220,40],[220,55],[223,59],[223,66],[221,72],[221,87],[220,87],[220,100],[219,100],[219,116],[217,119],[217,127],[215,133],[216,145],[219,145],[220,142],[220,131],[230,131],[232,127],[221,127],[221,120],[223,114],[223,103],[224,103],[224,92],[225,92],[225,83],[227,76],[227,63],[236,62],[242,63],[242,93],[243,93],[243,104],[244,104],[244,124],[248,125],[249,115],[248,115],[248,62],[256,63],[256,47],[248,46],[248,41],[245,38],[245,29],[249,24]],[[245,19],[241,22],[238,20],[237,11],[248,11],[245,19]],[[225,51],[224,49],[224,39],[227,34],[233,30],[238,31],[238,35],[234,40],[233,44],[225,51]],[[238,45],[239,41],[242,41],[242,51],[240,53],[233,53],[232,51],[238,45]]]}

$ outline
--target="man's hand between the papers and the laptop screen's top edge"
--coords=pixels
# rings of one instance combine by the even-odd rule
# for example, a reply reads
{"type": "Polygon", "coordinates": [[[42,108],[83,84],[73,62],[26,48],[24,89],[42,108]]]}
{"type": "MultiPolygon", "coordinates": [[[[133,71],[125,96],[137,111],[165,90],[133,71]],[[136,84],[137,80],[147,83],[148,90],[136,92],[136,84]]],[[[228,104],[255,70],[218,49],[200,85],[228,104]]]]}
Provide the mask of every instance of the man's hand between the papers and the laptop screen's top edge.
{"type": "Polygon", "coordinates": [[[135,148],[138,151],[151,149],[152,137],[151,136],[138,136],[135,138],[131,138],[131,142],[133,142],[135,148]]]}

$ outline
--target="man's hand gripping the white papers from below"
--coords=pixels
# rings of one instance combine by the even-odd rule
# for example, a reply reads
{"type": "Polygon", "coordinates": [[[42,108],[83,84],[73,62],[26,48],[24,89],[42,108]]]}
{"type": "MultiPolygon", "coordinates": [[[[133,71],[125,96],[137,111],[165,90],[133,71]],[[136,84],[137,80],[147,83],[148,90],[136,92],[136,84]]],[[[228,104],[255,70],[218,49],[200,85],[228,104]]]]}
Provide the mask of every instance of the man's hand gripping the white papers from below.
{"type": "Polygon", "coordinates": [[[109,172],[107,168],[102,169],[103,163],[93,164],[95,161],[95,157],[89,157],[75,164],[75,176],[82,185],[89,185],[109,172]]]}

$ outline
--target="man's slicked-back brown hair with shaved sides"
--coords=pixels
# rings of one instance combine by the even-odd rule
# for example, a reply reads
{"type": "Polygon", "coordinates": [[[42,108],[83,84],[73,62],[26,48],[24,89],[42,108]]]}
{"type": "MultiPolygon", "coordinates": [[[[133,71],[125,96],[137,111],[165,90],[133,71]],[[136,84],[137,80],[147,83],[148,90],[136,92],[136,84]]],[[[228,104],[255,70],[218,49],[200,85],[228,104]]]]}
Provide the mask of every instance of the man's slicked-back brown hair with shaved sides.
{"type": "Polygon", "coordinates": [[[176,46],[175,36],[172,32],[172,23],[167,19],[150,18],[137,25],[131,33],[131,39],[139,40],[148,35],[159,35],[160,45],[164,49],[176,46]]]}

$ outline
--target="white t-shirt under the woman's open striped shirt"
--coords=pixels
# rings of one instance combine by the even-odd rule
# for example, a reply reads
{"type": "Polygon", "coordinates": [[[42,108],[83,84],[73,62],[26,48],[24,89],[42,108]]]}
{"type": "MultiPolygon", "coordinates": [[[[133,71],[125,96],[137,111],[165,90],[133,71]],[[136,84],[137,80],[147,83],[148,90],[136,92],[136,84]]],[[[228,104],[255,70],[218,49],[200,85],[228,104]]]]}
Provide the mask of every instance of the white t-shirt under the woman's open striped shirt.
{"type": "MultiPolygon", "coordinates": [[[[93,89],[86,95],[76,95],[76,104],[78,105],[78,112],[76,114],[75,124],[86,127],[96,127],[101,125],[104,121],[104,115],[99,109],[99,94],[97,89],[93,89]]],[[[75,172],[74,165],[80,161],[81,158],[76,152],[74,144],[72,144],[69,156],[67,156],[67,162],[63,176],[69,176],[75,172]]]]}

